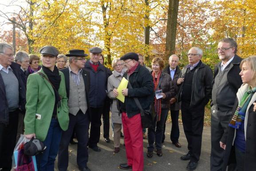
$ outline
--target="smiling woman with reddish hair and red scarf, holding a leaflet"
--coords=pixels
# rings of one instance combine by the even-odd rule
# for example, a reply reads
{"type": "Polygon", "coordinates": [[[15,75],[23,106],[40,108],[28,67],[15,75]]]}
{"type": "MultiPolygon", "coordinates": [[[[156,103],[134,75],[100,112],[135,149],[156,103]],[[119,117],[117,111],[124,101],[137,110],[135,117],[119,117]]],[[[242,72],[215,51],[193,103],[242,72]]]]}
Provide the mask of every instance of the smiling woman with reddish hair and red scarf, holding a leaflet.
{"type": "Polygon", "coordinates": [[[156,57],[152,60],[152,76],[154,82],[154,107],[156,117],[154,119],[154,126],[148,128],[148,152],[147,157],[153,156],[154,142],[156,142],[157,155],[162,156],[161,140],[163,136],[165,117],[168,115],[170,108],[169,100],[172,97],[171,93],[171,76],[163,73],[164,60],[156,57]]]}

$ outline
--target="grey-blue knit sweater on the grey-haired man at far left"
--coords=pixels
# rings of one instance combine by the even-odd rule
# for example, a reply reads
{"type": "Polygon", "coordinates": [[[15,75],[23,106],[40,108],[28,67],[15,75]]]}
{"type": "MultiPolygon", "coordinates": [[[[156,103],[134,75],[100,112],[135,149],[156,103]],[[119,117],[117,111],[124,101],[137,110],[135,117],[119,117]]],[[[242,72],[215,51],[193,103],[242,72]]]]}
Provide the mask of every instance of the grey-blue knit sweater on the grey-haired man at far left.
{"type": "Polygon", "coordinates": [[[12,112],[19,108],[19,82],[12,70],[8,70],[8,74],[3,70],[0,70],[0,74],[4,80],[8,108],[12,112]]]}

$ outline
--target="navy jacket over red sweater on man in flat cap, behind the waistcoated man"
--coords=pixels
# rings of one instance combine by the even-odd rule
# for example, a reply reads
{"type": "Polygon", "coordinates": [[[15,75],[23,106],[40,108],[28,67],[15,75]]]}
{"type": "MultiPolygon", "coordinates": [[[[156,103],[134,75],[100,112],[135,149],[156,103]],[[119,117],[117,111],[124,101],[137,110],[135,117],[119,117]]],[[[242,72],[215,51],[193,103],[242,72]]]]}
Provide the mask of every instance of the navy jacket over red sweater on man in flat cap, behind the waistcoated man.
{"type": "Polygon", "coordinates": [[[90,72],[90,107],[103,107],[107,97],[107,79],[109,76],[106,67],[98,63],[98,69],[95,72],[89,61],[87,61],[84,66],[84,70],[90,72]]]}

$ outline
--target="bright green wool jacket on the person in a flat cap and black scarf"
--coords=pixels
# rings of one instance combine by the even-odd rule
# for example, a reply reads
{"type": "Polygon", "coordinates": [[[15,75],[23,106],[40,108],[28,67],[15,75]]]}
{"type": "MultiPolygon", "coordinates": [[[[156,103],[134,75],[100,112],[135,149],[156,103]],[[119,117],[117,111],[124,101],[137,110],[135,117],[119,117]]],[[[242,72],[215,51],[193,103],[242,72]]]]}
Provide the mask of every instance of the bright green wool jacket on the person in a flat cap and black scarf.
{"type": "MultiPolygon", "coordinates": [[[[46,77],[43,70],[39,70],[46,77]]],[[[57,109],[59,125],[63,131],[66,131],[69,123],[67,93],[65,87],[65,78],[62,72],[59,72],[61,82],[59,86],[59,95],[62,98],[60,107],[57,109]]],[[[55,104],[54,90],[51,84],[39,74],[30,74],[27,82],[27,104],[24,118],[24,134],[35,133],[36,138],[44,141],[51,123],[51,117],[55,104]],[[36,117],[36,114],[40,117],[36,117]]]]}

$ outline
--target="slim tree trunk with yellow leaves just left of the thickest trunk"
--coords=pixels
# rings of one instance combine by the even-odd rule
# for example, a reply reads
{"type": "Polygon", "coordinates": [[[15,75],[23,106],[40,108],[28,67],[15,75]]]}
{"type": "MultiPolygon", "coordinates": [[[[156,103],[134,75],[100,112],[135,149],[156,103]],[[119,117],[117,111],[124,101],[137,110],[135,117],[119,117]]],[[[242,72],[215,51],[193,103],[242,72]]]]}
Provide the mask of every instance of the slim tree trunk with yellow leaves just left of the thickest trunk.
{"type": "Polygon", "coordinates": [[[148,61],[150,56],[149,56],[149,45],[150,45],[150,25],[149,25],[149,20],[150,20],[150,11],[148,10],[149,8],[149,0],[145,0],[145,4],[146,4],[146,12],[145,12],[145,28],[144,28],[144,36],[145,36],[145,60],[148,61]]]}

